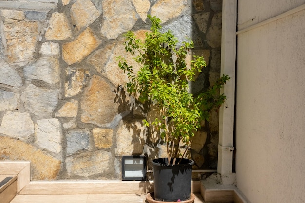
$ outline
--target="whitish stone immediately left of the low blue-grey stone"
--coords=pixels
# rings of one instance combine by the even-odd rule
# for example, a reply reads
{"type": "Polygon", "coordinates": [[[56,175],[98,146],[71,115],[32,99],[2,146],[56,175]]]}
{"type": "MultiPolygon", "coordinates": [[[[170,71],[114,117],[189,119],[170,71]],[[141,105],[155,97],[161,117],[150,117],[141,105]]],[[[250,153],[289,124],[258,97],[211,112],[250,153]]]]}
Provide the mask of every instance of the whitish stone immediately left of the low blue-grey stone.
{"type": "Polygon", "coordinates": [[[36,121],[36,143],[49,151],[59,153],[61,151],[62,130],[60,122],[56,118],[36,121]]]}

